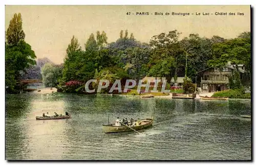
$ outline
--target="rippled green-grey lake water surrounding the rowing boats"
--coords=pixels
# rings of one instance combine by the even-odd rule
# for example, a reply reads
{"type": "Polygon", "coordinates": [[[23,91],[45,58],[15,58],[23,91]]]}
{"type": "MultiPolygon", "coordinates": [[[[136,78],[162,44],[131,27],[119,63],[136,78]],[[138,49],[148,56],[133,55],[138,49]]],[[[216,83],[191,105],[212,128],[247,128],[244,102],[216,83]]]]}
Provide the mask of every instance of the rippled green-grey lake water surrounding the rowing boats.
{"type": "Polygon", "coordinates": [[[36,92],[6,95],[6,159],[251,160],[250,100],[138,99],[36,92]],[[102,124],[151,117],[153,127],[105,134],[102,124]],[[35,120],[42,112],[71,119],[35,120]]]}

